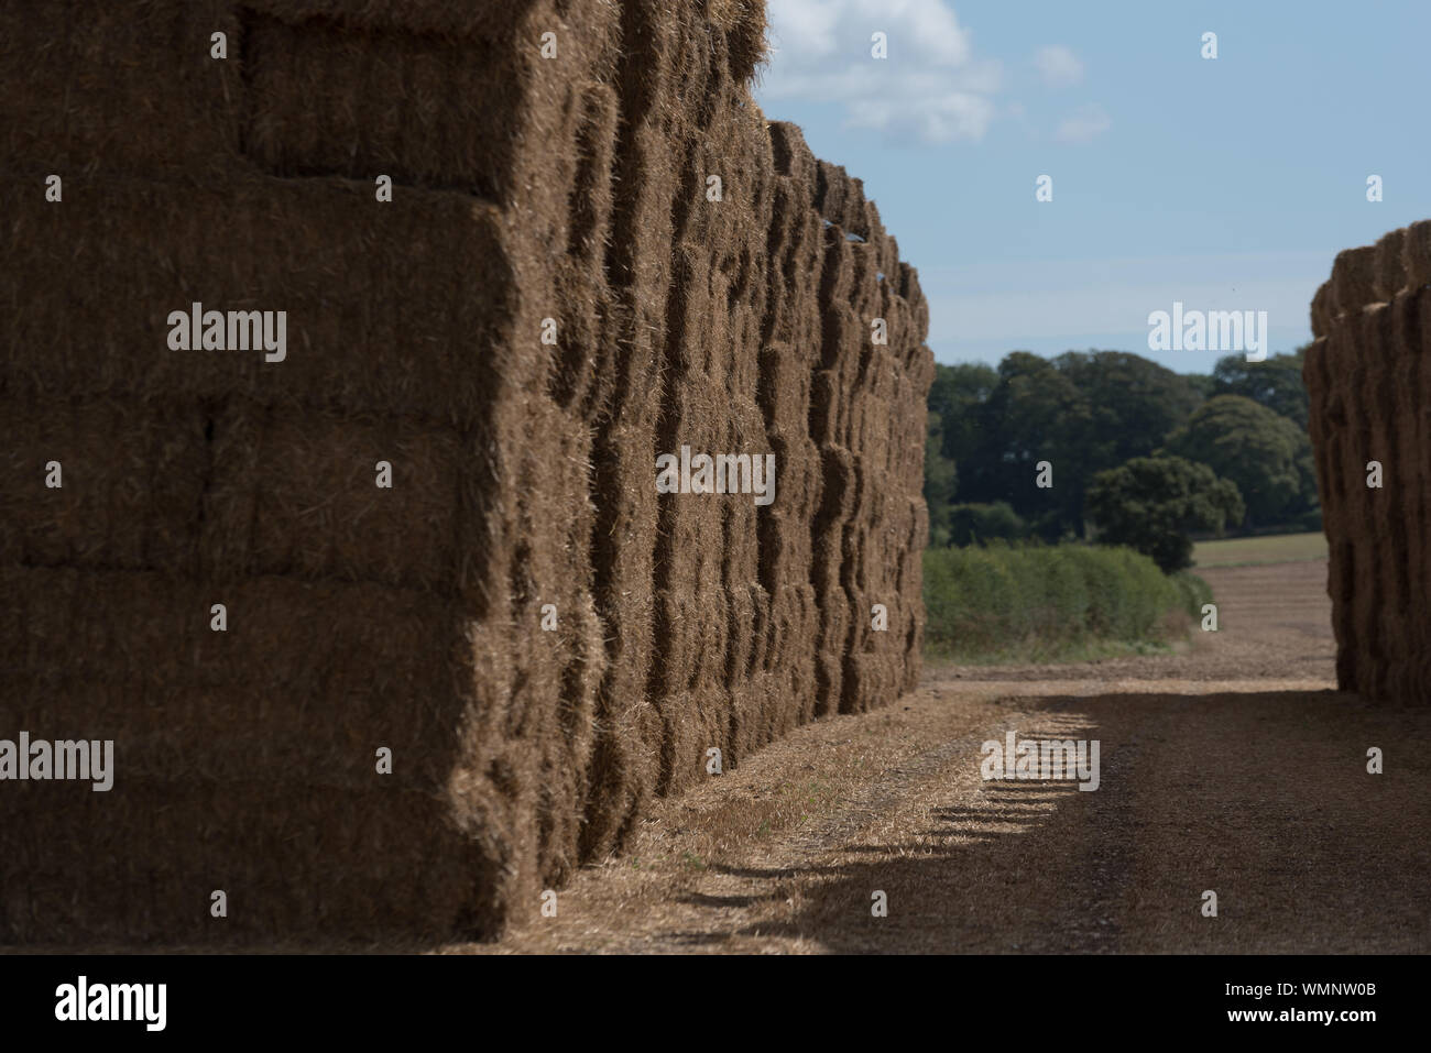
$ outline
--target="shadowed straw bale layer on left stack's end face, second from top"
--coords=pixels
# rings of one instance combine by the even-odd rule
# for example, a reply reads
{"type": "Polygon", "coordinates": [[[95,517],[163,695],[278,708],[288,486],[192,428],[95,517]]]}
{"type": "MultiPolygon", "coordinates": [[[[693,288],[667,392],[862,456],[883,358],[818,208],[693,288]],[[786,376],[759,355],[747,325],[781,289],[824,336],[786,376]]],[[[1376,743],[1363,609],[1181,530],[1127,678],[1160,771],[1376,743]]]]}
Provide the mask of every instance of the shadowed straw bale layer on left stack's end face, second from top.
{"type": "Polygon", "coordinates": [[[26,275],[9,286],[3,392],[246,395],[477,426],[507,371],[539,353],[509,328],[502,220],[464,195],[378,203],[339,179],[74,177],[54,206],[14,179],[0,187],[14,202],[9,262],[26,275]],[[195,302],[285,310],[286,358],[170,349],[170,312],[195,302]]]}

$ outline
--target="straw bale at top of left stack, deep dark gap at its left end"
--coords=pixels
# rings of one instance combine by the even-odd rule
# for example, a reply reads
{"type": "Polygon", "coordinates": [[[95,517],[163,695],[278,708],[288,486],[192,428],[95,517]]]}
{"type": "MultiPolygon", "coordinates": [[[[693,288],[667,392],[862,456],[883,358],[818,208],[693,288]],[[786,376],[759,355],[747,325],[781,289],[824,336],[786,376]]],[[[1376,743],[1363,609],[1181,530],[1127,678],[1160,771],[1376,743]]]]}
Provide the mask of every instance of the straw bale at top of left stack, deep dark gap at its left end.
{"type": "MultiPolygon", "coordinates": [[[[537,160],[527,145],[541,142],[535,195],[575,179],[578,90],[611,64],[614,4],[346,6],[326,17],[305,16],[333,4],[262,7],[245,24],[243,142],[265,170],[386,175],[508,202],[534,175],[521,167],[537,160]]],[[[532,202],[532,219],[551,203],[532,202]]]]}

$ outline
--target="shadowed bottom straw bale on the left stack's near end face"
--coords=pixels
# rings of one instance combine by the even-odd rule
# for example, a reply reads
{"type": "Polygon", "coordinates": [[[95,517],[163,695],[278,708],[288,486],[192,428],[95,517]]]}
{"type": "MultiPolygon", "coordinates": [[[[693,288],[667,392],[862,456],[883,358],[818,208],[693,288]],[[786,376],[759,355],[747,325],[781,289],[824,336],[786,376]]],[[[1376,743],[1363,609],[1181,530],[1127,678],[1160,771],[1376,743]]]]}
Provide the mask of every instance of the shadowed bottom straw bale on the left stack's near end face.
{"type": "Polygon", "coordinates": [[[110,793],[31,781],[0,794],[0,943],[421,947],[501,924],[501,857],[441,795],[122,780],[110,793]],[[225,919],[210,916],[215,890],[225,919]]]}

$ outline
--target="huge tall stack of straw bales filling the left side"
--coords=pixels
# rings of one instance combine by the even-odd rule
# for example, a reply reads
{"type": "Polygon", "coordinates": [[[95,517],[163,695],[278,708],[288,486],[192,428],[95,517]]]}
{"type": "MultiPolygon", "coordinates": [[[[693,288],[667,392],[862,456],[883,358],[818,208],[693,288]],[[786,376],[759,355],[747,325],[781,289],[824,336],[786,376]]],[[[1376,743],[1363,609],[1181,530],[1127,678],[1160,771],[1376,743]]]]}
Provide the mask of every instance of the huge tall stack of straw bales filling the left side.
{"type": "Polygon", "coordinates": [[[492,936],[708,748],[913,684],[927,313],[750,102],[763,29],[0,13],[0,738],[117,757],[0,783],[0,941],[492,936]],[[175,349],[193,303],[286,356],[175,349]],[[774,502],[658,495],[683,445],[774,502]]]}

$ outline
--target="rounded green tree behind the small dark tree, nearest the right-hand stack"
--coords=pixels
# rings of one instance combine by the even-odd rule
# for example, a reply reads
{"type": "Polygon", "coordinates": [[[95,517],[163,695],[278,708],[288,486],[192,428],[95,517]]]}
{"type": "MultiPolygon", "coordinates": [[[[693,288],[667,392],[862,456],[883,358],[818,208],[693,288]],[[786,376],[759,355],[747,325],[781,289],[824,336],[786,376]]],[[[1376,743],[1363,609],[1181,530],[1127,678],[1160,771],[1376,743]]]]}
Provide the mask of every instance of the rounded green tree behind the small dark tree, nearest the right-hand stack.
{"type": "Polygon", "coordinates": [[[1166,452],[1205,464],[1235,482],[1246,502],[1249,526],[1307,511],[1312,464],[1307,432],[1249,398],[1208,399],[1185,428],[1168,436],[1166,452]]]}

